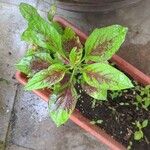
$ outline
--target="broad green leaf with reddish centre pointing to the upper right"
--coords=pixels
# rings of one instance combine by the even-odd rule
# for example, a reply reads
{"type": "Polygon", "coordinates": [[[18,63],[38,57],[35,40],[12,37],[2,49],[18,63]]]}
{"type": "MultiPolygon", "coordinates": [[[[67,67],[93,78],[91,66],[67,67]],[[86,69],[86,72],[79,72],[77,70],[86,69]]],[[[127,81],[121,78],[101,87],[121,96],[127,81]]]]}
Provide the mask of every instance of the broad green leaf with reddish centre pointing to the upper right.
{"type": "Polygon", "coordinates": [[[95,62],[110,59],[124,42],[127,28],[120,25],[112,25],[95,29],[85,42],[86,61],[95,62]]]}

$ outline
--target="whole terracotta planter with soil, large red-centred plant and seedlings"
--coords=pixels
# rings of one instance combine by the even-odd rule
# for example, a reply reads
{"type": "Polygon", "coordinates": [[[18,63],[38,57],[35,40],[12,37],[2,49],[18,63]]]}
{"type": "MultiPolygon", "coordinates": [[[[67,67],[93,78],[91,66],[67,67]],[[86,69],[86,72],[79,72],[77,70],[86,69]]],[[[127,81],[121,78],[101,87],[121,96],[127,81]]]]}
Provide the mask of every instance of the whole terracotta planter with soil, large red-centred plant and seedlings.
{"type": "Polygon", "coordinates": [[[28,21],[22,40],[31,46],[16,64],[17,80],[48,102],[57,126],[70,118],[111,149],[148,148],[150,78],[114,55],[127,28],[112,25],[87,37],[55,10],[47,22],[20,4],[28,21]]]}

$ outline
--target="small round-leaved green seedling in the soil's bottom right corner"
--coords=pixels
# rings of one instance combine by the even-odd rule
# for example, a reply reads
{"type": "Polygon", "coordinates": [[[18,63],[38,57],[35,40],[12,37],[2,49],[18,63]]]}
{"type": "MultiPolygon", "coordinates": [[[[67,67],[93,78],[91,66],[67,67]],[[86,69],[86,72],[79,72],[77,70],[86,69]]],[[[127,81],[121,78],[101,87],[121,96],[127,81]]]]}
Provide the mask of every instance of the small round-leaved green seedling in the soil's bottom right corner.
{"type": "Polygon", "coordinates": [[[139,141],[144,137],[144,133],[142,129],[147,127],[148,120],[146,119],[142,123],[140,123],[139,121],[136,121],[133,124],[136,126],[136,128],[138,128],[138,130],[134,132],[134,140],[139,141]]]}

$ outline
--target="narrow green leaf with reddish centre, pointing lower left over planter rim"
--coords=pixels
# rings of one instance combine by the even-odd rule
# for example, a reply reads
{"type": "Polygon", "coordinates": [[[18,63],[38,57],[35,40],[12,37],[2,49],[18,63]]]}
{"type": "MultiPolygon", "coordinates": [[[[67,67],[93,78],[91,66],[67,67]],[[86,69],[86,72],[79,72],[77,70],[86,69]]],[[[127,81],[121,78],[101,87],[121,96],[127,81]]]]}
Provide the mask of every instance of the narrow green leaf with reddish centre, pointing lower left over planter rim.
{"type": "Polygon", "coordinates": [[[66,68],[60,64],[53,64],[48,69],[36,73],[26,84],[26,90],[42,89],[51,87],[61,81],[66,68]]]}

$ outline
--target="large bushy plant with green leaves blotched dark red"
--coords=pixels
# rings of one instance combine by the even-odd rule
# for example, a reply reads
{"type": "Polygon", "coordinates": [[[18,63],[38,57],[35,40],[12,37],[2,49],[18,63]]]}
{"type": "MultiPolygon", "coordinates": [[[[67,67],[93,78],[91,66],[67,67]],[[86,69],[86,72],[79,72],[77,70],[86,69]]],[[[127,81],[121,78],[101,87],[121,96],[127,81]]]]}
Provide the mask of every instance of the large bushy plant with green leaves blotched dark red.
{"type": "Polygon", "coordinates": [[[30,77],[26,90],[53,90],[49,114],[57,126],[64,124],[75,109],[79,97],[75,89],[77,82],[97,100],[106,100],[107,90],[133,87],[126,75],[108,63],[124,42],[126,27],[112,25],[95,29],[82,45],[71,28],[62,30],[52,21],[53,11],[49,13],[50,22],[28,4],[21,3],[20,11],[28,21],[22,40],[33,48],[17,64],[17,69],[30,77]]]}

